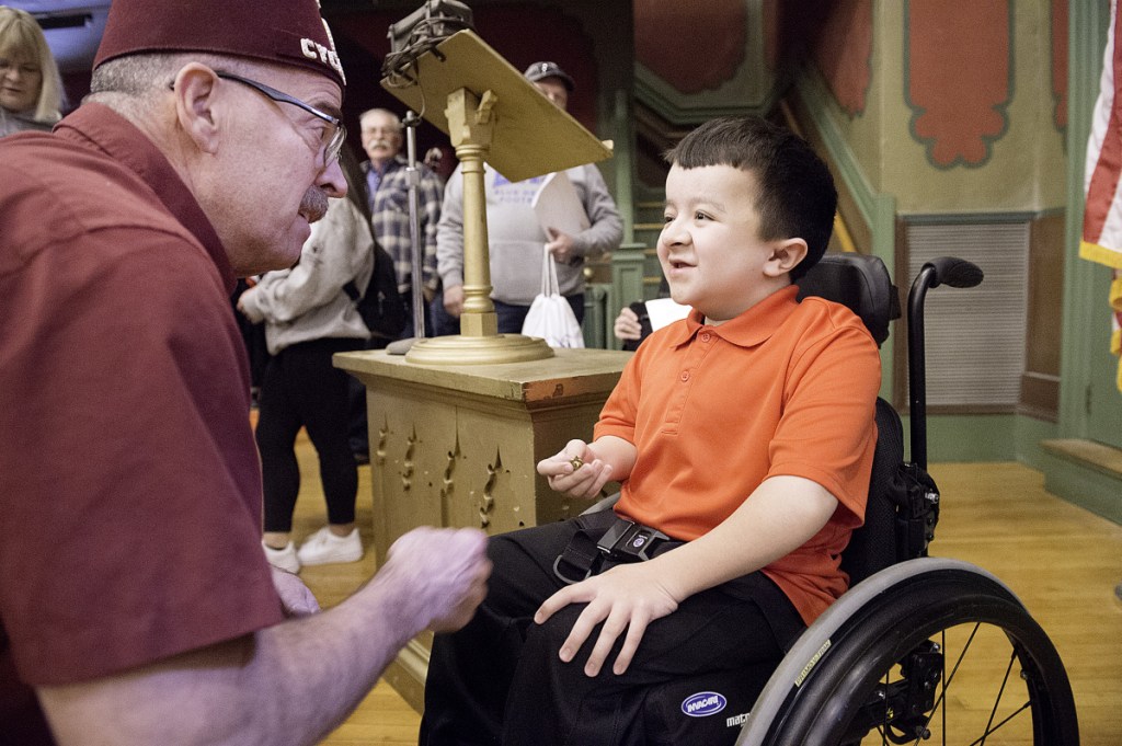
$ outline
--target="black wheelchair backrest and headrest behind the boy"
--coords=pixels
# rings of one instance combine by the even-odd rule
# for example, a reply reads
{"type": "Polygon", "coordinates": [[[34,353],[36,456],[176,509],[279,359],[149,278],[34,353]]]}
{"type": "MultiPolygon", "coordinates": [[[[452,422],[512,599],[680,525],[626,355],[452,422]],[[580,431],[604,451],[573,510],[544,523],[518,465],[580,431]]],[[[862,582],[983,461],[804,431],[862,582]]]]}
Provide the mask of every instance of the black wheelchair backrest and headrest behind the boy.
{"type": "MultiPolygon", "coordinates": [[[[900,317],[900,295],[877,257],[828,254],[799,280],[799,300],[825,297],[848,306],[877,344],[900,317]]],[[[856,584],[896,562],[926,554],[938,516],[938,491],[926,473],[904,463],[900,415],[876,400],[876,451],[870,479],[865,523],[842,553],[842,569],[856,584]],[[934,505],[932,505],[934,501],[934,505]]]]}

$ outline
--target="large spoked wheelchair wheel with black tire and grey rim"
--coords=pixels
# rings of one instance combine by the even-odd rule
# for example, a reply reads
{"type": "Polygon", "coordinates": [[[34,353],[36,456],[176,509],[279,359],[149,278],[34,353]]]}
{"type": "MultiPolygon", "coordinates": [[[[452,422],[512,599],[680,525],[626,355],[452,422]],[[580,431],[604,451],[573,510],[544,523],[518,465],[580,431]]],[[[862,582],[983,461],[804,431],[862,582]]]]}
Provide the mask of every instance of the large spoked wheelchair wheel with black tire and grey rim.
{"type": "Polygon", "coordinates": [[[843,621],[799,641],[738,744],[1077,746],[1063,662],[1001,581],[921,559],[866,582],[843,621]]]}

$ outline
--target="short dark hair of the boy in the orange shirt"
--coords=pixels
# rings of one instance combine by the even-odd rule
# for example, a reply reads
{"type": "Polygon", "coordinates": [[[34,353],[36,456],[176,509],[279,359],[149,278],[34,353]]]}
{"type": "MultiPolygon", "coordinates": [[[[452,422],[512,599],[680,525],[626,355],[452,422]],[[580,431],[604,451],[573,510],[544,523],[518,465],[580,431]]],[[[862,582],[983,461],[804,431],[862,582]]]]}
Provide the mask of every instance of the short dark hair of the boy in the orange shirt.
{"type": "Polygon", "coordinates": [[[790,130],[758,117],[723,117],[687,135],[665,158],[681,168],[733,166],[755,174],[760,239],[807,242],[807,257],[791,270],[791,279],[802,277],[826,252],[838,202],[834,177],[790,130]]]}

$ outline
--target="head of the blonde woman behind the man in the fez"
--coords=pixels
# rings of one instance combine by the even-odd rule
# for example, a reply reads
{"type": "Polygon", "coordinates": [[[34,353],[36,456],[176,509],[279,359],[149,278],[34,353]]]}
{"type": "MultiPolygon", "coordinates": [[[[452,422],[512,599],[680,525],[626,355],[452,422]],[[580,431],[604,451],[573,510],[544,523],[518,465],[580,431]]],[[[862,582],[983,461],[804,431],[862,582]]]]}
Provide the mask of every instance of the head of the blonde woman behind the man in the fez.
{"type": "Polygon", "coordinates": [[[43,29],[27,11],[0,6],[0,137],[49,130],[62,108],[62,76],[43,29]]]}

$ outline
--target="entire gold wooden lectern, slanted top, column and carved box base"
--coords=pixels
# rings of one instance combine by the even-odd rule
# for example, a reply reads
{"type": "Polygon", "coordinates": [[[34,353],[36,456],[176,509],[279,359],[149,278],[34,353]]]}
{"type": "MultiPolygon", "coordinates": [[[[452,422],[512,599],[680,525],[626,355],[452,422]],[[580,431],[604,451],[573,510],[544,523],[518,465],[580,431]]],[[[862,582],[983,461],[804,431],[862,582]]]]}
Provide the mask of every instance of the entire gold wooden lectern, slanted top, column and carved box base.
{"type": "MultiPolygon", "coordinates": [[[[385,350],[334,357],[367,388],[379,565],[390,543],[416,526],[496,534],[587,507],[550,489],[535,464],[570,438],[591,438],[631,357],[554,354],[540,339],[498,334],[490,301],[484,162],[522,181],[601,160],[611,148],[470,30],[417,57],[412,72],[416,85],[383,85],[448,132],[460,157],[466,301],[459,337],[419,339],[404,359],[385,350]]],[[[419,711],[430,642],[429,634],[411,641],[385,674],[419,711]]]]}

